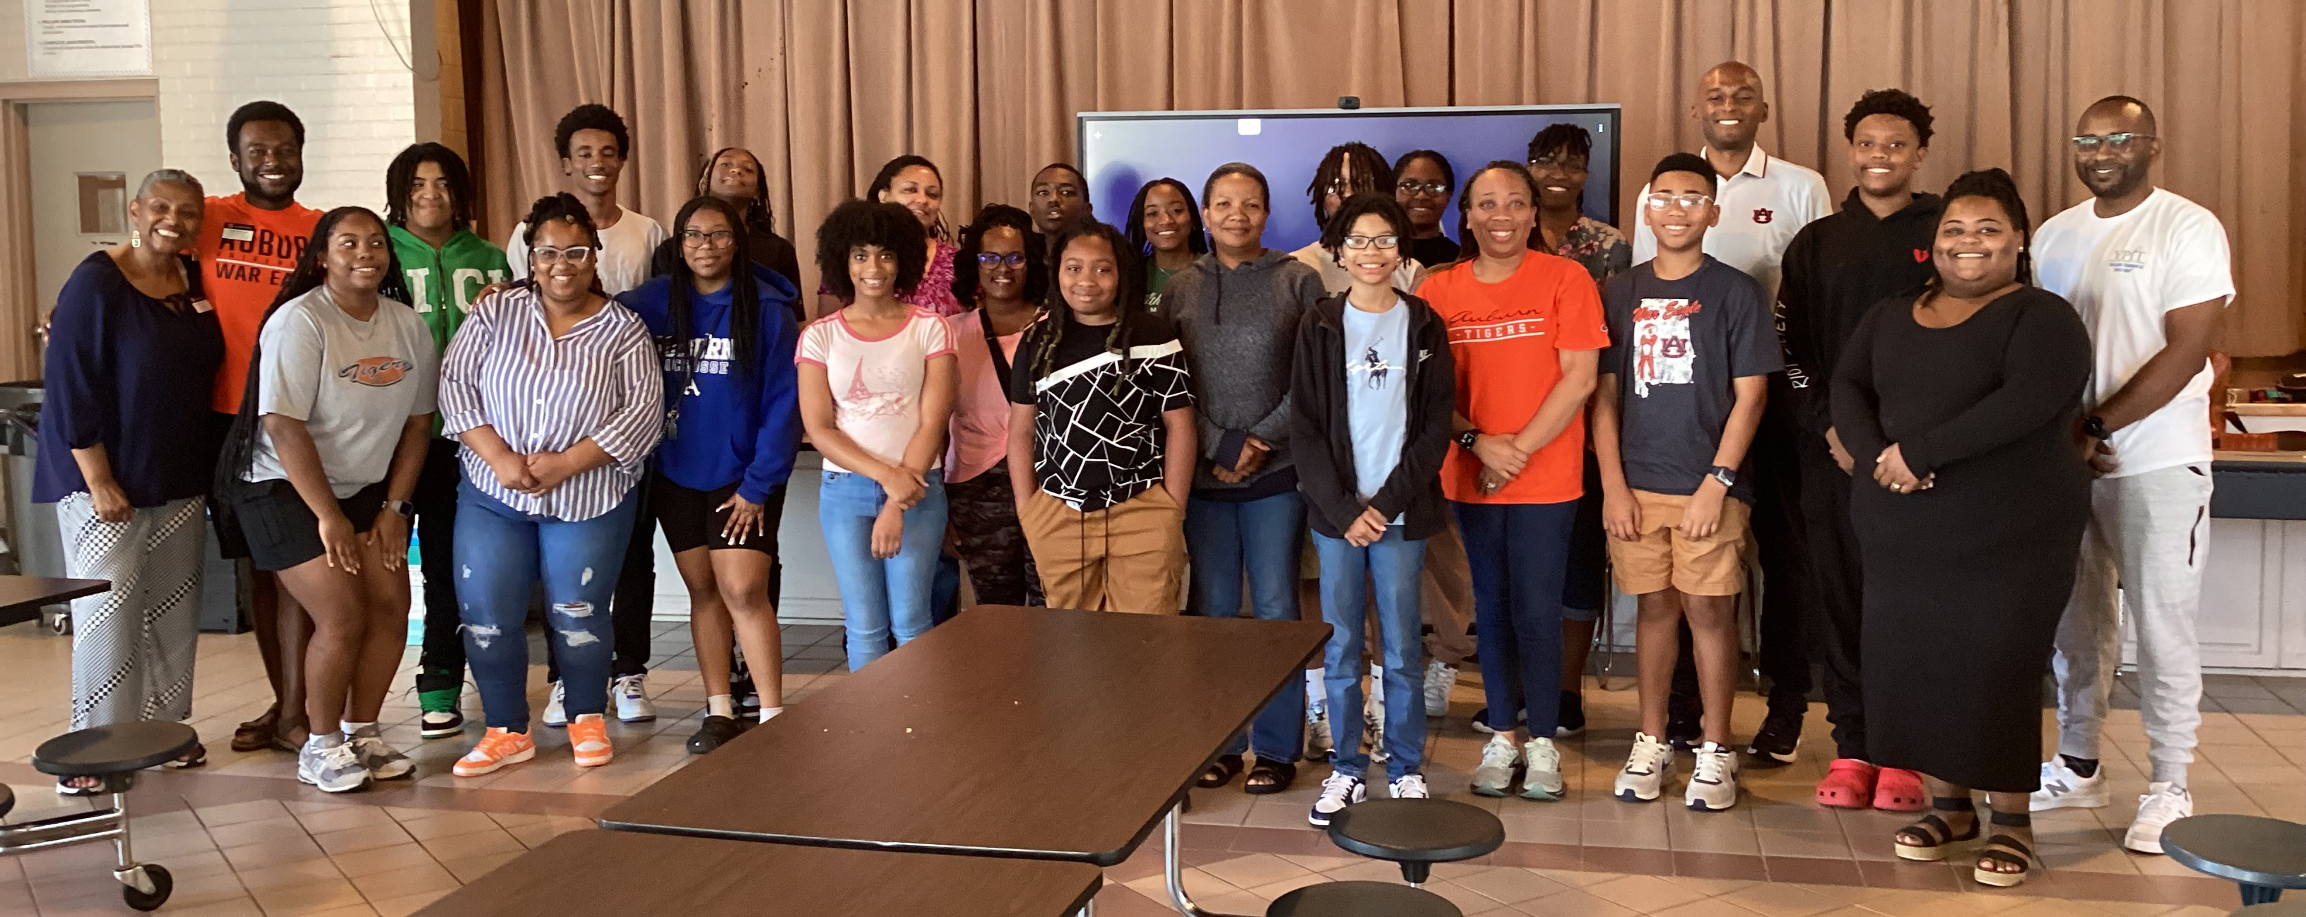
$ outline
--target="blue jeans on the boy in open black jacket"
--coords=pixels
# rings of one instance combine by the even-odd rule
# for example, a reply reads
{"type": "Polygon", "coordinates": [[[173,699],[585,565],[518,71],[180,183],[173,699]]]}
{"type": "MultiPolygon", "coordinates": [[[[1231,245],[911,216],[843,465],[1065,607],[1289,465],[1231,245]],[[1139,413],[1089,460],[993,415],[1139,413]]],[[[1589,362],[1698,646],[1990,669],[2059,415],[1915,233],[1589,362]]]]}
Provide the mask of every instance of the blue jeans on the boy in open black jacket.
{"type": "Polygon", "coordinates": [[[1321,555],[1321,620],[1328,622],[1324,687],[1328,728],[1337,737],[1331,760],[1349,776],[1370,770],[1370,753],[1361,751],[1361,645],[1370,622],[1361,583],[1367,576],[1377,583],[1377,638],[1384,643],[1386,779],[1418,774],[1425,770],[1425,643],[1418,617],[1425,541],[1409,541],[1400,525],[1388,525],[1386,537],[1367,548],[1321,532],[1312,532],[1312,548],[1321,555]]]}

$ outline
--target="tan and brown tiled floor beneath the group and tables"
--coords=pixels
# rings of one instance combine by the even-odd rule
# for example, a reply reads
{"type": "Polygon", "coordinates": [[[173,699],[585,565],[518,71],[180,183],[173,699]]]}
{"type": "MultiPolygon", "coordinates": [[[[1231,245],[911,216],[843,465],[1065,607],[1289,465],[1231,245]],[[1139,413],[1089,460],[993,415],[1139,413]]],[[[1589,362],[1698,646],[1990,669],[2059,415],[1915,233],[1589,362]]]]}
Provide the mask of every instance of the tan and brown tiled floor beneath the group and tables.
{"type": "MultiPolygon", "coordinates": [[[[537,763],[484,779],[447,774],[464,742],[420,742],[410,673],[385,707],[387,737],[420,763],[415,781],[325,797],[295,783],[286,753],[226,751],[238,721],[267,703],[249,636],[203,636],[194,726],[210,747],[196,772],[150,774],[134,795],[136,848],[175,873],[178,915],[406,915],[496,864],[570,832],[586,816],[630,795],[689,756],[685,737],[701,717],[694,657],[678,624],[657,627],[660,668],[650,675],[660,719],[611,726],[618,758],[576,772],[565,740],[540,733],[537,763]]],[[[786,627],[786,696],[807,703],[844,675],[839,629],[786,627]]],[[[410,654],[413,664],[413,654],[410,654]]],[[[32,624],[0,629],[0,779],[16,786],[18,811],[37,818],[60,802],[28,760],[65,730],[69,643],[32,624]]],[[[1612,680],[1626,687],[1626,680],[1612,680]]],[[[533,675],[542,700],[542,670],[533,675]]],[[[2193,772],[2198,811],[2264,813],[2306,820],[2306,680],[2211,677],[2202,749],[2193,772]]],[[[1672,804],[1635,806],[1607,797],[1633,728],[1633,691],[1589,689],[1593,728],[1563,742],[1568,802],[1480,799],[1467,776],[1483,735],[1464,717],[1480,705],[1476,675],[1457,687],[1448,719],[1434,721],[1427,776],[1437,790],[1497,811],[1508,843],[1492,857],[1434,871],[1427,887],[1467,915],[2223,915],[2232,885],[2200,878],[2165,857],[2115,848],[2131,809],[2059,811],[2036,818],[2048,869],[2015,892],[1983,889],[1953,866],[1902,864],[1889,834],[1905,818],[1817,809],[1810,786],[1831,747],[1813,705],[1801,760],[1748,772],[1746,799],[1727,813],[1672,804]]],[[[477,700],[468,694],[468,714],[477,700]]],[[[1762,705],[1739,703],[1753,730],[1762,705]]],[[[473,726],[477,733],[477,726],[473,726]]],[[[2105,767],[2115,797],[2145,786],[2145,737],[2135,710],[2108,726],[2105,767]]],[[[1683,758],[1683,770],[1688,760],[1683,758]]],[[[1305,827],[1324,772],[1310,767],[1282,795],[1236,788],[1195,790],[1185,827],[1188,889],[1206,908],[1261,912],[1301,885],[1333,878],[1400,880],[1391,864],[1356,859],[1305,827]]],[[[108,876],[108,846],[71,846],[0,857],[0,915],[127,912],[108,876]]],[[[1158,841],[1107,871],[1100,915],[1169,915],[1158,841]]]]}

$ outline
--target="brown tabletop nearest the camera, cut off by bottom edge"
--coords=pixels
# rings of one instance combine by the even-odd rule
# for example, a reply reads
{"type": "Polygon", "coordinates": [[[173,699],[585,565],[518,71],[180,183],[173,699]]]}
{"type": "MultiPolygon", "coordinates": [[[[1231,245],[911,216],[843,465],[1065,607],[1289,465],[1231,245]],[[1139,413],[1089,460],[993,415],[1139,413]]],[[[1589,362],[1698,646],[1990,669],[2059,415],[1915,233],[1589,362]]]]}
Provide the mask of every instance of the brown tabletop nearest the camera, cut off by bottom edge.
{"type": "Polygon", "coordinates": [[[978,859],[570,832],[491,869],[420,917],[1058,917],[1088,905],[1088,864],[978,859]]]}

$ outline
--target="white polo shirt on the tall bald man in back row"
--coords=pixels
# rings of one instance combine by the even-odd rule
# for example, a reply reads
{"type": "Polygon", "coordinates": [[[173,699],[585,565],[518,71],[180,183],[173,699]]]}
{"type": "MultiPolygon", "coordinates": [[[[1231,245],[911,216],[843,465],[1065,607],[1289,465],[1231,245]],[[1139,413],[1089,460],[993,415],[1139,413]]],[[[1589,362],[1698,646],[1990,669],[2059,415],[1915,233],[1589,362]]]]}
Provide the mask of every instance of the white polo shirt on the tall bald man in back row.
{"type": "MultiPolygon", "coordinates": [[[[1704,150],[1697,154],[1702,157],[1704,150]]],[[[1626,235],[1633,237],[1635,265],[1658,256],[1658,237],[1649,223],[1642,223],[1642,214],[1649,210],[1644,198],[1649,198],[1649,184],[1642,184],[1642,194],[1633,198],[1633,223],[1626,226],[1626,235]]],[[[1778,300],[1778,274],[1785,265],[1785,247],[1794,244],[1794,233],[1833,212],[1824,175],[1771,157],[1759,143],[1736,175],[1720,180],[1713,203],[1720,205],[1723,217],[1718,226],[1706,230],[1706,253],[1762,283],[1762,295],[1769,302],[1778,300]]]]}

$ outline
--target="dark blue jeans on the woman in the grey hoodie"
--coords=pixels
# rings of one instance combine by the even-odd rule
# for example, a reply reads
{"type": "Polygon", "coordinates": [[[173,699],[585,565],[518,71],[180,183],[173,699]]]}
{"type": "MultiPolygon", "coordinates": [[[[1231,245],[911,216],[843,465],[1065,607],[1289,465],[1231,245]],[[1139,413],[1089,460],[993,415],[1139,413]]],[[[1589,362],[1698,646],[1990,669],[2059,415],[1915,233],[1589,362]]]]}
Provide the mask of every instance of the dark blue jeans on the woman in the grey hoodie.
{"type": "MultiPolygon", "coordinates": [[[[1257,620],[1298,620],[1303,537],[1305,500],[1296,491],[1250,502],[1188,500],[1185,551],[1192,555],[1188,569],[1195,613],[1241,615],[1241,576],[1248,574],[1250,611],[1257,620]]],[[[1236,735],[1222,753],[1238,756],[1250,747],[1268,760],[1305,758],[1305,680],[1291,677],[1250,721],[1250,735],[1236,735]]]]}

